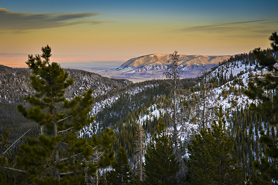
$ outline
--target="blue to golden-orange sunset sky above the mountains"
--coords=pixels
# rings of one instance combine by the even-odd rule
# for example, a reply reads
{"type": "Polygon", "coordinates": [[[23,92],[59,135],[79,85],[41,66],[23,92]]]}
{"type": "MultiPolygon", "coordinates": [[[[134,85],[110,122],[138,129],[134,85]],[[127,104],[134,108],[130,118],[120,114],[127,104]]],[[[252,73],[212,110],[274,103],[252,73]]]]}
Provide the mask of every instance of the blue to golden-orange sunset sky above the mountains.
{"type": "Polygon", "coordinates": [[[278,0],[1,0],[0,64],[25,65],[47,45],[58,62],[97,65],[175,50],[246,53],[270,46],[277,7],[278,0]]]}

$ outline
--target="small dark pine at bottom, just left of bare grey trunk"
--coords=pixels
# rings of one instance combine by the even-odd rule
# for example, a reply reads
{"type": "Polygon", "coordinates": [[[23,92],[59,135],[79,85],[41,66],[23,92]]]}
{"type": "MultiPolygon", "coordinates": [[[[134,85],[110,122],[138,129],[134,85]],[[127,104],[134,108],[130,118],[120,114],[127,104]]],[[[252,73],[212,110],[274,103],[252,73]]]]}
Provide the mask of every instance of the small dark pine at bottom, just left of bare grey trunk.
{"type": "Polygon", "coordinates": [[[108,184],[112,185],[130,185],[132,180],[131,167],[126,151],[120,147],[114,163],[112,164],[113,170],[107,175],[108,184]]]}

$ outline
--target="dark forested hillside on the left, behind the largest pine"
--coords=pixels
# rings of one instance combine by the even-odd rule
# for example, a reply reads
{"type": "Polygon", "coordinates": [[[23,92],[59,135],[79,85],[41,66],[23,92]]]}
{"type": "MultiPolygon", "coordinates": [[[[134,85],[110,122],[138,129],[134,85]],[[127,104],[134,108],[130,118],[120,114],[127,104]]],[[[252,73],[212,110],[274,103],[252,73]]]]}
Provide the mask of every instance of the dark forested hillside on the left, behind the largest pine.
{"type": "MultiPolygon", "coordinates": [[[[81,95],[89,88],[94,90],[93,96],[97,97],[132,84],[129,80],[101,77],[83,70],[65,69],[65,71],[69,72],[69,77],[74,78],[74,84],[65,93],[68,99],[81,95]]],[[[34,135],[39,134],[39,127],[16,110],[19,103],[27,106],[22,99],[23,96],[34,93],[30,84],[30,75],[31,70],[28,68],[0,65],[0,133],[8,128],[11,139],[17,139],[30,128],[33,128],[34,135]]],[[[31,132],[28,135],[30,136],[31,132]]]]}

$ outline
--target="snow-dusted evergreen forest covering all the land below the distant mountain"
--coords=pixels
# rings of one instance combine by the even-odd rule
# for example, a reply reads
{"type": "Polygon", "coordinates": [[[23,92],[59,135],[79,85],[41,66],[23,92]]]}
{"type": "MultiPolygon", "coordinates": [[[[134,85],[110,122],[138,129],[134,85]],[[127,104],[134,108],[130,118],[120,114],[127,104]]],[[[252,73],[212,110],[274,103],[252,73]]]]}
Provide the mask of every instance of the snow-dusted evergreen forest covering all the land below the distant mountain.
{"type": "Polygon", "coordinates": [[[277,185],[278,35],[196,78],[0,65],[0,185],[277,185]]]}

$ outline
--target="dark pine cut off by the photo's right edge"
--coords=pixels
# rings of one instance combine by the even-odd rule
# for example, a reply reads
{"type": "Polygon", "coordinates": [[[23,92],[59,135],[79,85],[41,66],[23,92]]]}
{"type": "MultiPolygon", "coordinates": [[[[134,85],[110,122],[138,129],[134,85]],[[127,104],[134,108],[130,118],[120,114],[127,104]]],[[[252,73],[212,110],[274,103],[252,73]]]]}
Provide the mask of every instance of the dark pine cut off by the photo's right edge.
{"type": "Polygon", "coordinates": [[[275,56],[278,55],[278,35],[277,32],[272,33],[269,37],[272,41],[273,55],[266,56],[260,48],[253,50],[253,53],[261,68],[266,67],[268,71],[272,72],[267,74],[264,79],[255,78],[254,82],[248,83],[248,90],[244,93],[251,99],[258,99],[261,104],[251,104],[250,109],[259,112],[262,116],[266,117],[267,128],[266,130],[273,130],[276,134],[269,136],[269,132],[260,132],[261,137],[259,142],[264,145],[262,153],[264,157],[260,161],[253,162],[254,170],[257,170],[257,175],[265,182],[275,182],[278,184],[278,67],[275,56]],[[271,97],[264,93],[270,92],[271,97]]]}

